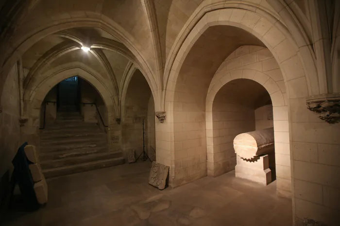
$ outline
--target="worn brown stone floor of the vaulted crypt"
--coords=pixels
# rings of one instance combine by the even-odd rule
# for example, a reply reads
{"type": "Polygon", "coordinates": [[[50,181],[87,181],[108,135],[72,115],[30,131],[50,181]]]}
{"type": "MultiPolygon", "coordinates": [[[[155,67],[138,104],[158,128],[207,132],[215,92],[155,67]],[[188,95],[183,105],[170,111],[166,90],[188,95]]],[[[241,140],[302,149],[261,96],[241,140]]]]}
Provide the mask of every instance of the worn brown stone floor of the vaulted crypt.
{"type": "Polygon", "coordinates": [[[263,186],[230,172],[159,191],[148,184],[150,166],[125,164],[51,179],[44,208],[8,213],[4,225],[291,225],[291,200],[276,196],[275,182],[263,186]]]}

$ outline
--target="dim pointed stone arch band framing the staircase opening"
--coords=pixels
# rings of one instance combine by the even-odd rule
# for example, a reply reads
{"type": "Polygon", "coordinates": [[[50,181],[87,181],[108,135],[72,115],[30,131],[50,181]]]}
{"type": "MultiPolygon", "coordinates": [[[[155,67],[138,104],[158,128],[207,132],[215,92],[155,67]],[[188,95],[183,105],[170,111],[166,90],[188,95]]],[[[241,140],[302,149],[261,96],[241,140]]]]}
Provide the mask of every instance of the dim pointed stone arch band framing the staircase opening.
{"type": "MultiPolygon", "coordinates": [[[[27,85],[23,93],[24,117],[27,119],[24,126],[21,127],[24,139],[29,143],[39,147],[38,127],[40,124],[40,109],[47,93],[52,87],[59,82],[72,76],[79,76],[90,83],[101,95],[102,100],[107,108],[108,116],[108,141],[109,149],[114,145],[111,142],[111,131],[115,131],[117,122],[115,117],[118,115],[118,108],[115,99],[109,88],[105,85],[105,80],[102,79],[99,73],[93,71],[82,63],[67,64],[53,68],[41,76],[35,77],[27,85]]],[[[114,133],[114,132],[112,132],[114,133]]],[[[120,143],[119,143],[120,144],[120,143]]],[[[38,148],[39,149],[39,148],[38,148]]]]}

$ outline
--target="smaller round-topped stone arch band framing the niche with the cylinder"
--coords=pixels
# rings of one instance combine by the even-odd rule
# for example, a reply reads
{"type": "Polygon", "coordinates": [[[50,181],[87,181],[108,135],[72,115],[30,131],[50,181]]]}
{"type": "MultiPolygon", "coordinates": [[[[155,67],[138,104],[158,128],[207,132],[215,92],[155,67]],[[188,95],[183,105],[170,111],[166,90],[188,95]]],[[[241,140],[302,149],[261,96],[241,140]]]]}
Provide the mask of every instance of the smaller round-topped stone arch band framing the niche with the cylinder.
{"type": "MultiPolygon", "coordinates": [[[[274,137],[275,137],[275,150],[278,150],[278,155],[282,158],[289,159],[289,121],[288,121],[288,105],[285,103],[284,90],[265,73],[250,69],[238,69],[231,72],[221,72],[214,75],[209,91],[206,97],[206,108],[205,108],[205,123],[206,123],[206,150],[207,150],[207,168],[208,175],[218,176],[217,173],[221,169],[218,169],[218,164],[214,161],[214,156],[218,154],[218,151],[214,149],[214,128],[213,128],[213,104],[216,94],[221,88],[235,79],[250,79],[265,88],[268,91],[273,106],[273,123],[274,123],[274,137]],[[286,150],[285,154],[282,155],[281,150],[286,150]]],[[[281,161],[282,162],[282,161],[281,161]]],[[[280,166],[281,167],[281,166],[280,166]]],[[[277,178],[280,180],[280,184],[287,181],[286,178],[277,178]]],[[[289,182],[288,182],[289,183],[289,182]]],[[[289,183],[290,184],[290,183],[289,183]]],[[[281,187],[277,188],[278,190],[281,187]]]]}

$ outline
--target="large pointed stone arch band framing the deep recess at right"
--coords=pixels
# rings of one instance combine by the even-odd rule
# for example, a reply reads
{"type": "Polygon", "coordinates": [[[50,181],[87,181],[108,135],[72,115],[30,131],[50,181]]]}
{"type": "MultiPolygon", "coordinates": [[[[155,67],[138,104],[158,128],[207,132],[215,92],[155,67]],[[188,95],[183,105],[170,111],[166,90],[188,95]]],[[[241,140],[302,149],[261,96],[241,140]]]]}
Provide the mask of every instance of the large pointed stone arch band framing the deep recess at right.
{"type": "Polygon", "coordinates": [[[187,23],[188,25],[194,24],[191,26],[192,29],[183,30],[178,36],[177,44],[174,45],[177,47],[172,48],[172,56],[167,62],[168,71],[164,77],[167,90],[163,95],[163,103],[170,101],[169,98],[172,95],[168,91],[174,90],[179,71],[193,44],[205,30],[216,25],[241,28],[263,42],[280,65],[287,82],[289,97],[306,97],[323,92],[323,88],[319,87],[319,80],[323,78],[318,78],[312,53],[308,46],[302,45],[303,39],[297,42],[278,18],[263,9],[243,3],[237,6],[233,3],[225,4],[215,5],[214,8],[204,8],[201,14],[196,15],[196,18],[187,23]],[[171,64],[171,69],[169,69],[171,64]],[[294,72],[292,68],[303,69],[294,72]]]}

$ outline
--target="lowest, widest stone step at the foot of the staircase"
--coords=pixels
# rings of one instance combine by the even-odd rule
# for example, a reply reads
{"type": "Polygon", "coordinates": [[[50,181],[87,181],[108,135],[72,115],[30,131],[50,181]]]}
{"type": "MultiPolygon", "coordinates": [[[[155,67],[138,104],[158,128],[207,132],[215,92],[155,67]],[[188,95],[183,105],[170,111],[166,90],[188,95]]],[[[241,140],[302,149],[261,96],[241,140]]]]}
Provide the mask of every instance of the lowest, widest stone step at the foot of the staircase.
{"type": "Polygon", "coordinates": [[[79,173],[84,171],[89,171],[93,169],[99,169],[104,167],[110,166],[118,166],[124,164],[125,160],[123,157],[120,158],[113,158],[113,159],[106,159],[106,160],[99,160],[95,162],[88,162],[88,163],[81,163],[72,166],[62,166],[57,168],[51,169],[44,169],[42,170],[45,178],[53,178],[64,176],[73,173],[79,173]]]}

